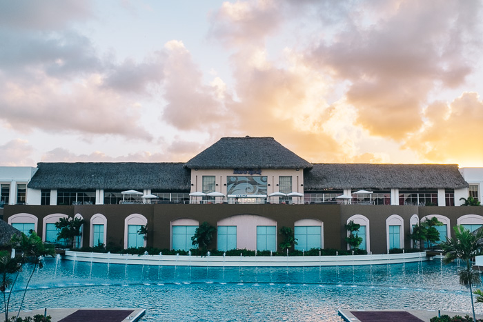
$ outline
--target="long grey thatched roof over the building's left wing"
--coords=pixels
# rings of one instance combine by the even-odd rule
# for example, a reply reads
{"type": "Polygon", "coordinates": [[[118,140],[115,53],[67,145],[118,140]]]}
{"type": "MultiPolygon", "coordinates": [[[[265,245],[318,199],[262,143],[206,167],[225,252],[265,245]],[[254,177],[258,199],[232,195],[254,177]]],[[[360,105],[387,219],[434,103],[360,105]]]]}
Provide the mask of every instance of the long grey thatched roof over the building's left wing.
{"type": "Polygon", "coordinates": [[[190,170],[183,163],[38,163],[37,168],[28,188],[190,190],[190,170]]]}

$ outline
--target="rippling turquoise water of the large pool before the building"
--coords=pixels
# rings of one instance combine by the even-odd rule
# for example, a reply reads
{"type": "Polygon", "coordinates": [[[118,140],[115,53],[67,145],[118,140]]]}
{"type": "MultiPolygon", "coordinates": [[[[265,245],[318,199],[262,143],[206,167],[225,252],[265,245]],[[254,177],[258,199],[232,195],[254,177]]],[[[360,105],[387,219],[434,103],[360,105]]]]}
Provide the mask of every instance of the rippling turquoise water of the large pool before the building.
{"type": "MultiPolygon", "coordinates": [[[[457,263],[202,268],[46,259],[23,308],[145,308],[141,321],[342,321],[339,309],[470,312],[457,263]]],[[[28,279],[28,268],[15,290],[28,279]]],[[[18,308],[20,292],[12,294],[18,308]]],[[[477,313],[483,304],[476,303],[477,313]]]]}

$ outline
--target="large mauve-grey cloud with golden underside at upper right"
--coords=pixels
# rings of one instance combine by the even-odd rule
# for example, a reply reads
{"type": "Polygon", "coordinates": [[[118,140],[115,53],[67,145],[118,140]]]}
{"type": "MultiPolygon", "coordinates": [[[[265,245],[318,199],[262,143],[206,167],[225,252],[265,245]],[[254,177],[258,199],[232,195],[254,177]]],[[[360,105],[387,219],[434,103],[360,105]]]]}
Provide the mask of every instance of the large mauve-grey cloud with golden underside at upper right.
{"type": "Polygon", "coordinates": [[[431,90],[438,84],[462,85],[473,71],[469,49],[478,43],[475,21],[481,3],[393,4],[392,15],[369,26],[356,8],[354,20],[333,41],[321,39],[308,63],[337,81],[351,82],[346,97],[359,112],[359,125],[371,134],[401,140],[422,126],[421,112],[431,90]]]}

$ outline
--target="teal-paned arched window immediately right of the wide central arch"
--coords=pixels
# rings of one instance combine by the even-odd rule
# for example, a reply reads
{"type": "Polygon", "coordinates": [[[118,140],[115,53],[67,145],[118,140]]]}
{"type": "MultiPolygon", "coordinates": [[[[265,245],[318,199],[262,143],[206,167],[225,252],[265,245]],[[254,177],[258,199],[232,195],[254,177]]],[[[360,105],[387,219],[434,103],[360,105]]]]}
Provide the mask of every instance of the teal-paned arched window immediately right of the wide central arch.
{"type": "Polygon", "coordinates": [[[324,248],[324,223],[317,219],[300,219],[295,221],[296,250],[324,248]]]}

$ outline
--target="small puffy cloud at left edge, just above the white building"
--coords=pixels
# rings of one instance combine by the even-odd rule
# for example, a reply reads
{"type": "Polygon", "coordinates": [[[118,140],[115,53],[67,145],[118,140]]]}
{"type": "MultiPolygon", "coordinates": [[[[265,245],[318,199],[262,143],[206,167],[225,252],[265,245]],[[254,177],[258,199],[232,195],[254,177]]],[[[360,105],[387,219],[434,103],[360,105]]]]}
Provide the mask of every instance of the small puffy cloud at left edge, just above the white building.
{"type": "Polygon", "coordinates": [[[31,159],[34,151],[28,141],[14,139],[0,145],[0,165],[1,166],[34,166],[35,162],[31,159]]]}

